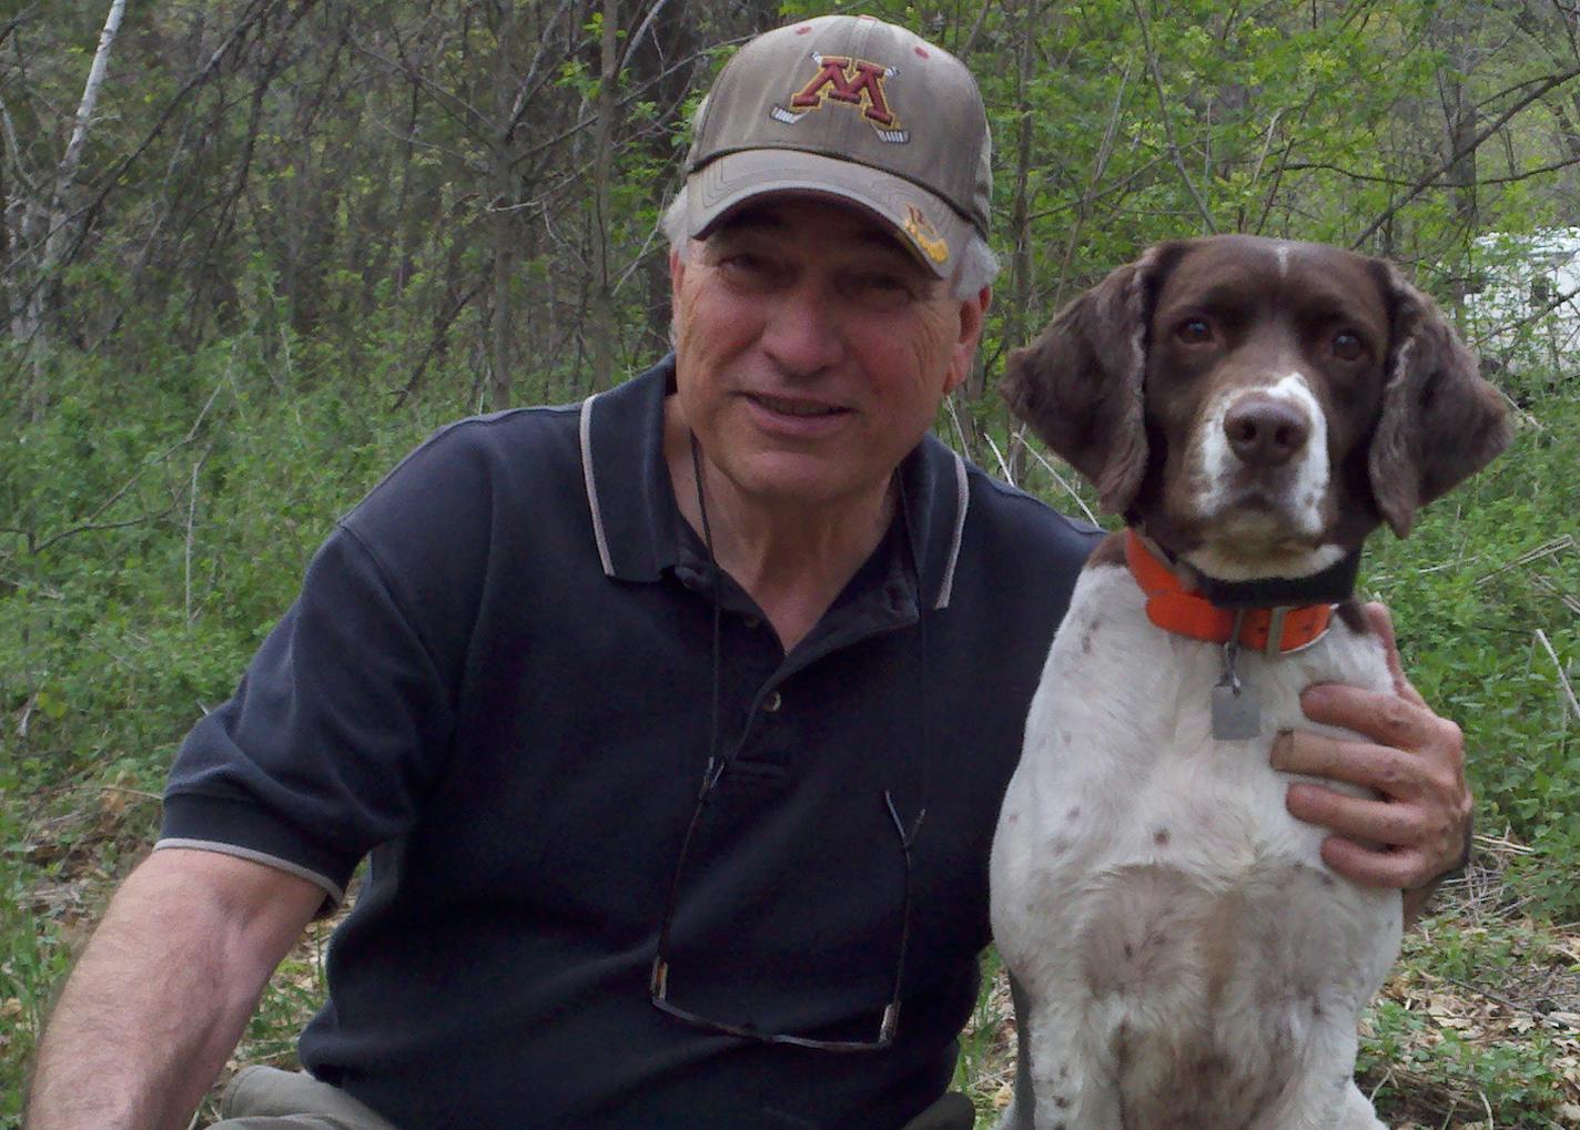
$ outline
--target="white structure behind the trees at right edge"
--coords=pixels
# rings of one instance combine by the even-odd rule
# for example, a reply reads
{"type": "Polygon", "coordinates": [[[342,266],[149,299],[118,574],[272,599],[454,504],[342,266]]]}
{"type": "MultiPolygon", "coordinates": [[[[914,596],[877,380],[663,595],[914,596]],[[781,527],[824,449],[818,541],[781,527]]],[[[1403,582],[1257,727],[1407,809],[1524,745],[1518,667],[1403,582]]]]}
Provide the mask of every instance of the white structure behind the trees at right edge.
{"type": "Polygon", "coordinates": [[[1484,360],[1580,368],[1580,227],[1476,238],[1480,290],[1465,297],[1465,331],[1484,360]]]}

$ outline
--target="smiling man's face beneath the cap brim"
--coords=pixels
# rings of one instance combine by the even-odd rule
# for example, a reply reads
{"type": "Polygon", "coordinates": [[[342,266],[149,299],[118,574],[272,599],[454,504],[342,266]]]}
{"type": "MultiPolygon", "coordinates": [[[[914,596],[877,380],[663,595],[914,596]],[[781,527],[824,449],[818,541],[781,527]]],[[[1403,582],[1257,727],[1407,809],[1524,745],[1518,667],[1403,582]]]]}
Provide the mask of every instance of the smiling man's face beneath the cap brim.
{"type": "Polygon", "coordinates": [[[670,254],[681,415],[749,499],[882,492],[970,369],[988,292],[961,301],[882,221],[749,205],[670,254]]]}

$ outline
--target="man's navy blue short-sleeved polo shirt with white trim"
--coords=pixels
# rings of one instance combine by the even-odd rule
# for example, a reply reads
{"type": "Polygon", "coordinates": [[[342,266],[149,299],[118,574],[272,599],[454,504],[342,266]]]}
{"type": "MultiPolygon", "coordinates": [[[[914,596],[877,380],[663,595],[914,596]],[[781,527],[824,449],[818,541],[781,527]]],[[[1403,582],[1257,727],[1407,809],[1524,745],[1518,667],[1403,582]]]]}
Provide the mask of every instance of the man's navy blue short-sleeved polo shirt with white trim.
{"type": "Polygon", "coordinates": [[[894,1127],[946,1087],[988,849],[1093,533],[932,437],[888,535],[788,655],[720,581],[732,756],[687,852],[670,1001],[894,1043],[700,1031],[648,977],[708,758],[714,600],[664,462],[673,361],[581,406],[452,425],[340,521],[235,696],[198,723],[161,846],[338,898],[302,1062],[403,1130],[894,1127]]]}

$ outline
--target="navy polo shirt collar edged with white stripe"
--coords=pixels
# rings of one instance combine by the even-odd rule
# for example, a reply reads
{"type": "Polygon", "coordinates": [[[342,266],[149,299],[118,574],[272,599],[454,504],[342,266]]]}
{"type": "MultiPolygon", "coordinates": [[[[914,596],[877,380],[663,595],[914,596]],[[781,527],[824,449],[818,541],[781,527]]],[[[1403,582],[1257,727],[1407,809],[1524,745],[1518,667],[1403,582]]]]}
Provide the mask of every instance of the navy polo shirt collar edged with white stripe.
{"type": "MultiPolygon", "coordinates": [[[[607,576],[657,581],[676,563],[683,521],[664,461],[664,398],[675,354],[640,377],[581,402],[581,477],[591,535],[607,576]]],[[[948,608],[970,492],[965,461],[927,434],[901,464],[901,499],[927,608],[948,608]]]]}

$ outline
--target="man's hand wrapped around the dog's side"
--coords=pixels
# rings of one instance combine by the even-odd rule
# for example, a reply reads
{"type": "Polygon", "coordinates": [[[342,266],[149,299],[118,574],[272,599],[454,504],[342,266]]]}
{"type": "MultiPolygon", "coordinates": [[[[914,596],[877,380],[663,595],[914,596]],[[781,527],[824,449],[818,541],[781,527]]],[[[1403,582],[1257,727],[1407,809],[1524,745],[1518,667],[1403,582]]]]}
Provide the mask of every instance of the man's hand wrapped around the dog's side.
{"type": "MultiPolygon", "coordinates": [[[[1311,721],[1370,740],[1292,731],[1273,742],[1272,764],[1375,791],[1378,799],[1351,797],[1296,783],[1286,803],[1297,819],[1334,830],[1322,841],[1322,860],[1334,871],[1362,885],[1414,892],[1465,862],[1471,833],[1465,737],[1405,679],[1387,609],[1367,604],[1364,611],[1387,649],[1395,694],[1319,683],[1302,693],[1300,709],[1311,721]]],[[[1406,898],[1416,904],[1406,911],[1420,901],[1406,898]]]]}

